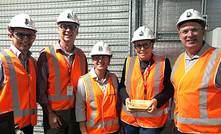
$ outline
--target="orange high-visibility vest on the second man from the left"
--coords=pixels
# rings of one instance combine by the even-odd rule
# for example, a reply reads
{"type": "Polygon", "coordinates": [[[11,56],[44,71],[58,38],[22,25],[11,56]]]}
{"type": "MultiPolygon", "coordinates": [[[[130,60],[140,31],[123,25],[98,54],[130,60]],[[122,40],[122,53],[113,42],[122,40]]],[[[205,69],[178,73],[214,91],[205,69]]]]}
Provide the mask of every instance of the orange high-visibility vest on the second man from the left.
{"type": "Polygon", "coordinates": [[[74,108],[74,94],[76,94],[78,78],[86,73],[86,58],[84,53],[77,48],[77,53],[70,68],[71,81],[69,83],[69,68],[67,65],[69,62],[65,61],[65,57],[54,47],[55,45],[45,48],[49,65],[48,103],[53,110],[74,108]],[[73,86],[73,95],[67,95],[67,86],[73,86]]]}

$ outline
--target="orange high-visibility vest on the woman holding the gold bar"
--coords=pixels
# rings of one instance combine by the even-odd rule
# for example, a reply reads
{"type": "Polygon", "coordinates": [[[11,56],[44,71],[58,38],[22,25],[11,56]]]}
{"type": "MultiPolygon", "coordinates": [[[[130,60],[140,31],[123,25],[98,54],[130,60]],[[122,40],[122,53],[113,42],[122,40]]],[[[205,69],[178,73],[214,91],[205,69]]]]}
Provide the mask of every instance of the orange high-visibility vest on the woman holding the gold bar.
{"type": "MultiPolygon", "coordinates": [[[[163,78],[165,69],[165,58],[154,56],[154,64],[150,67],[150,74],[147,78],[147,100],[152,100],[154,96],[164,89],[163,78]]],[[[147,69],[144,73],[146,78],[147,69]]],[[[144,84],[140,71],[138,56],[129,57],[126,62],[125,85],[130,99],[144,100],[144,84]]],[[[128,112],[125,105],[122,105],[121,120],[133,126],[145,128],[162,127],[168,117],[169,102],[159,109],[155,109],[152,114],[147,112],[128,112]]]]}

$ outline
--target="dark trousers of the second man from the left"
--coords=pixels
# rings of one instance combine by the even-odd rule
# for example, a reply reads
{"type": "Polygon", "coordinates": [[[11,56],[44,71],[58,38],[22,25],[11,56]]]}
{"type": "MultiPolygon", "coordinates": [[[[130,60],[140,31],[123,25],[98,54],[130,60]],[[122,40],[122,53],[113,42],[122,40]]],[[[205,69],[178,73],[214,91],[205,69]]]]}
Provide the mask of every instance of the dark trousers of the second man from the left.
{"type": "Polygon", "coordinates": [[[81,134],[79,123],[75,119],[75,108],[69,110],[54,111],[60,118],[62,126],[60,129],[52,129],[48,122],[48,117],[43,115],[43,125],[45,134],[81,134]]]}

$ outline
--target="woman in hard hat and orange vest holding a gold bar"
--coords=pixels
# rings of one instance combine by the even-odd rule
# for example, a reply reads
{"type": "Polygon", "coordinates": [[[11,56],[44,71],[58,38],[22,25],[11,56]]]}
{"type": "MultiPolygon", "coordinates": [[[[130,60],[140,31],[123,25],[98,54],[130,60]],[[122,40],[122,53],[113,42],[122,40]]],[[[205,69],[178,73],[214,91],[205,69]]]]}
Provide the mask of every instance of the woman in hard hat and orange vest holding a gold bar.
{"type": "Polygon", "coordinates": [[[139,27],[132,39],[137,56],[125,60],[119,93],[127,134],[160,134],[167,121],[171,67],[169,59],[153,54],[155,42],[148,27],[139,27]]]}

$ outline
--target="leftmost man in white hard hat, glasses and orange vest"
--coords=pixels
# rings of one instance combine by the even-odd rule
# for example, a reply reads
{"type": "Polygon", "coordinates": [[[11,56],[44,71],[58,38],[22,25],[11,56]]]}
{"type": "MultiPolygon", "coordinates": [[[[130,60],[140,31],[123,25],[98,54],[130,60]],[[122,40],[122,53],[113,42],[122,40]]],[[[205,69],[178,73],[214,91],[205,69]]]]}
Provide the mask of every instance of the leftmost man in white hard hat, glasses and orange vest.
{"type": "Polygon", "coordinates": [[[0,53],[0,113],[13,111],[15,132],[33,134],[37,124],[37,63],[29,49],[37,29],[29,15],[18,14],[7,30],[12,45],[0,53]]]}

